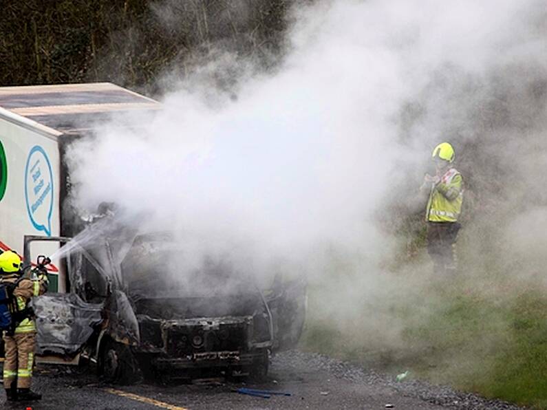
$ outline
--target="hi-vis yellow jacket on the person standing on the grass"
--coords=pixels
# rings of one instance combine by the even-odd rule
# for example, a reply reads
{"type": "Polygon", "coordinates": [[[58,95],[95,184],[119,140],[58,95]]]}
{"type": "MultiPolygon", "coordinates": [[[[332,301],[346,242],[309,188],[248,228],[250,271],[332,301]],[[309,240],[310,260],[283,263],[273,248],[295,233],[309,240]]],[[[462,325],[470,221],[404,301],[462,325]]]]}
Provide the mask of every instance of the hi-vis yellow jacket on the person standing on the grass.
{"type": "Polygon", "coordinates": [[[449,169],[438,184],[431,187],[425,220],[456,222],[462,212],[463,178],[456,169],[449,169]]]}

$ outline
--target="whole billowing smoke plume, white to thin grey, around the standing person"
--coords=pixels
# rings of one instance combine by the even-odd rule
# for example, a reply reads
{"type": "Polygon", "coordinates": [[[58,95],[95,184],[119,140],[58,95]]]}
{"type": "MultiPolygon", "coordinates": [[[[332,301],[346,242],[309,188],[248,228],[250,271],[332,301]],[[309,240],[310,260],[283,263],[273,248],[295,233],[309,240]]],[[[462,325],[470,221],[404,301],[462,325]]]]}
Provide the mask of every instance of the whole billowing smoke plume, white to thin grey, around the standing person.
{"type": "Polygon", "coordinates": [[[306,274],[325,321],[398,345],[407,319],[390,301],[431,279],[427,258],[407,259],[407,233],[438,142],[466,184],[462,261],[503,265],[518,248],[541,263],[546,16],[533,0],[297,3],[274,69],[221,48],[162,111],[74,144],[74,203],[146,212],[140,228],[178,232],[189,266],[222,255],[258,277],[306,274]]]}

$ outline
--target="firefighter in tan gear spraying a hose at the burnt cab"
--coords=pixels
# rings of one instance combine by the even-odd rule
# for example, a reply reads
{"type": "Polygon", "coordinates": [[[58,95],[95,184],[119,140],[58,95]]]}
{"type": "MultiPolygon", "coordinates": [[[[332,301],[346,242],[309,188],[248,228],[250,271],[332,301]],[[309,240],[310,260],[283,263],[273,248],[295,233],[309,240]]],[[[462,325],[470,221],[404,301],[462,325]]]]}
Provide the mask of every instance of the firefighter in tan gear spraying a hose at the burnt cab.
{"type": "Polygon", "coordinates": [[[28,306],[32,296],[47,290],[47,275],[39,272],[38,279],[22,278],[21,258],[8,250],[0,255],[0,281],[14,284],[13,297],[17,311],[13,312],[13,332],[3,334],[6,358],[3,365],[4,388],[9,401],[40,400],[41,394],[30,390],[36,323],[32,308],[28,306]]]}

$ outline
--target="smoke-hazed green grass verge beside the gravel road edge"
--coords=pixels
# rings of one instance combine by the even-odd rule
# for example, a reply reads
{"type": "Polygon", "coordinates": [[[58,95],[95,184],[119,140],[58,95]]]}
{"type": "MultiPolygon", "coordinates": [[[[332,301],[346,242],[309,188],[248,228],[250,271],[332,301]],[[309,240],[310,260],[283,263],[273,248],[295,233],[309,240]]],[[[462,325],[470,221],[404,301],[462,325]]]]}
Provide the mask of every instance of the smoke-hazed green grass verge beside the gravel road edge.
{"type": "MultiPolygon", "coordinates": [[[[352,327],[343,325],[343,316],[336,322],[319,319],[319,293],[312,289],[302,347],[392,374],[410,369],[434,383],[547,409],[547,296],[530,283],[511,283],[510,292],[506,284],[500,277],[460,277],[416,284],[414,290],[406,281],[379,290],[380,298],[392,296],[391,325],[403,323],[398,342],[366,319],[352,327]],[[371,345],[367,332],[380,332],[383,347],[371,345]]],[[[383,308],[376,310],[381,314],[383,308]]]]}

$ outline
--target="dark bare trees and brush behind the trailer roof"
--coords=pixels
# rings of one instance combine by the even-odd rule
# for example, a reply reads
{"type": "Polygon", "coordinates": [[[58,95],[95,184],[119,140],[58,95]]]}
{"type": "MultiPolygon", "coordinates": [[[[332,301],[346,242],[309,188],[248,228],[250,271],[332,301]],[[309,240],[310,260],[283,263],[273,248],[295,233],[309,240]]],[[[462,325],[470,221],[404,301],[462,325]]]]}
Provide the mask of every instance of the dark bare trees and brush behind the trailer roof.
{"type": "Polygon", "coordinates": [[[157,91],[160,74],[187,74],[223,50],[268,64],[288,0],[1,2],[0,85],[113,81],[157,91]]]}

